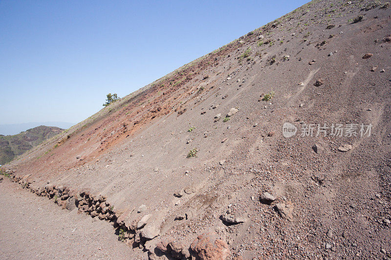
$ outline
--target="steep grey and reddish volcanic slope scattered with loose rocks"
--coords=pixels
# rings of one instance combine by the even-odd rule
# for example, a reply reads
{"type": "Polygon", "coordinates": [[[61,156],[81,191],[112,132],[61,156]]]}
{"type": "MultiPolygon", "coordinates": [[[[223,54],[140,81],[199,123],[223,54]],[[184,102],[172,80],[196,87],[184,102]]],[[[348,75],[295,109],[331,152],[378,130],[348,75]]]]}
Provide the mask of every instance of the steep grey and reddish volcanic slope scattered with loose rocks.
{"type": "Polygon", "coordinates": [[[131,259],[390,258],[389,6],[311,1],[5,169],[131,259]]]}

